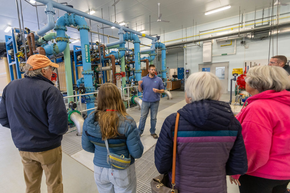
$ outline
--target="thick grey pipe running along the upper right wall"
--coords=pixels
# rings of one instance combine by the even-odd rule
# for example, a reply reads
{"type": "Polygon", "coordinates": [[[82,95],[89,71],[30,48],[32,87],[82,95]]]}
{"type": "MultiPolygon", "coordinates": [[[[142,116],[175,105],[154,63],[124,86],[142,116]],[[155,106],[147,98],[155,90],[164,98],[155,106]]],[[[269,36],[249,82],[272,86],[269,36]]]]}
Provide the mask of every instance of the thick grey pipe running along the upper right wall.
{"type": "MultiPolygon", "coordinates": [[[[255,27],[249,30],[242,30],[242,31],[237,31],[237,32],[231,32],[228,34],[221,34],[218,36],[211,36],[211,37],[206,37],[206,38],[200,38],[196,40],[191,40],[191,41],[183,41],[183,42],[177,42],[177,43],[172,43],[172,44],[167,44],[166,47],[173,47],[173,46],[178,46],[178,45],[186,45],[186,44],[191,44],[191,43],[196,43],[196,42],[202,42],[206,40],[213,40],[213,39],[218,39],[218,38],[224,38],[224,37],[229,37],[229,36],[235,36],[235,35],[240,35],[240,34],[247,34],[247,33],[255,33],[255,32],[261,32],[263,30],[271,30],[273,27],[273,30],[277,30],[278,28],[282,27],[289,27],[290,26],[290,21],[289,22],[283,22],[279,23],[279,25],[274,24],[274,25],[268,25],[268,26],[263,26],[263,27],[255,27]]],[[[155,45],[156,46],[156,45],[155,45]]]]}

